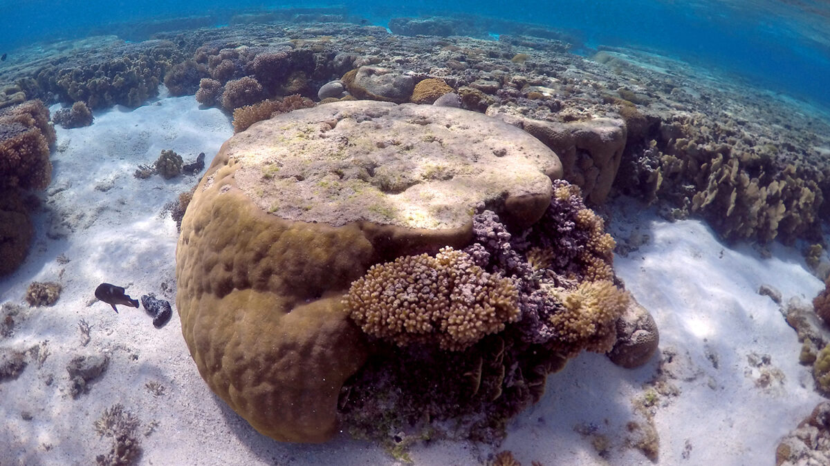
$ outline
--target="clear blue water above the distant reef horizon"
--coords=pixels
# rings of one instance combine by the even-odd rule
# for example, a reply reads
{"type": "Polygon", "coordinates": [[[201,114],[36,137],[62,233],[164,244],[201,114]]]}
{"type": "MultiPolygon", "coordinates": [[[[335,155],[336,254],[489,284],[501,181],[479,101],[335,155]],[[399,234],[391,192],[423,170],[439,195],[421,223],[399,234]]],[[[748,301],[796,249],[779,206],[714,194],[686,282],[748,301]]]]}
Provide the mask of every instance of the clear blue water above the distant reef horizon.
{"type": "MultiPolygon", "coordinates": [[[[296,6],[332,5],[304,2],[296,6]]],[[[515,5],[497,0],[336,3],[382,26],[390,17],[461,12],[560,27],[579,32],[588,46],[644,47],[830,108],[830,2],[824,0],[550,0],[515,5]]],[[[239,11],[289,6],[232,3],[239,11]]],[[[228,8],[227,2],[193,0],[4,0],[0,2],[0,51],[46,39],[84,36],[91,30],[106,32],[105,25],[113,23],[227,13],[228,8]]]]}

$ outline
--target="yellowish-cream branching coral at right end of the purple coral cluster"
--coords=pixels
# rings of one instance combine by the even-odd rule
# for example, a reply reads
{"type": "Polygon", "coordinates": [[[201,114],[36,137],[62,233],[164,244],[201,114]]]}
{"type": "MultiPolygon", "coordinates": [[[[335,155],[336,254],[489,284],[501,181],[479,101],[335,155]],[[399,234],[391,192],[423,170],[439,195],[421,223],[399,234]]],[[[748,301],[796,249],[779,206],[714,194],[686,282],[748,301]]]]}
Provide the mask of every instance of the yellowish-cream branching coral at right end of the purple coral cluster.
{"type": "Polygon", "coordinates": [[[608,352],[616,340],[615,324],[631,299],[610,280],[582,282],[576,289],[554,292],[564,309],[549,321],[558,340],[570,348],[608,352]]]}

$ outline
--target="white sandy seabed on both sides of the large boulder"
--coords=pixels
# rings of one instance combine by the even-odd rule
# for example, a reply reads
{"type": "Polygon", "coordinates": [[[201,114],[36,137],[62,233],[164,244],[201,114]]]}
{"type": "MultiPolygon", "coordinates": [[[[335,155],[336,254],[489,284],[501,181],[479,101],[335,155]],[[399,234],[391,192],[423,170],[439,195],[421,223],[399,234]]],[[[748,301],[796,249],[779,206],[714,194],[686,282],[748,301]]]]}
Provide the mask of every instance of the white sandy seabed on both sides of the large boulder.
{"type": "MultiPolygon", "coordinates": [[[[57,109],[53,107],[52,111],[57,109]]],[[[327,444],[280,444],[257,434],[207,389],[183,342],[176,314],[156,329],[144,309],[116,314],[95,287],[127,287],[174,301],[176,227],[164,205],[198,177],[133,176],[162,149],[210,158],[232,135],[227,116],[193,97],[115,108],[95,124],[57,129],[54,174],[27,262],[0,281],[0,303],[22,303],[25,318],[0,346],[29,352],[16,379],[0,382],[0,464],[92,464],[109,451],[94,423],[120,403],[139,420],[139,464],[394,464],[383,449],[341,435],[327,444]],[[68,260],[68,262],[66,262],[68,260]],[[23,301],[32,281],[56,281],[51,307],[23,301]],[[164,283],[164,285],[163,285],[164,283]],[[165,291],[165,288],[167,289],[165,291]],[[78,323],[90,324],[81,344],[78,323]],[[42,356],[47,354],[45,360],[42,356]],[[104,354],[107,370],[73,398],[66,366],[104,354]],[[40,355],[38,361],[37,355],[40,355]],[[157,392],[147,384],[159,384],[157,392]]],[[[770,284],[784,302],[808,302],[823,284],[797,250],[721,244],[700,221],[667,223],[633,201],[614,206],[613,234],[649,240],[615,268],[660,328],[660,353],[637,370],[585,353],[549,377],[544,398],[511,424],[500,449],[522,464],[652,464],[627,446],[627,423],[642,422],[633,401],[662,374],[676,394],[658,396],[656,464],[774,464],[778,440],[823,400],[798,364],[800,345],[779,306],[757,294],[770,284]],[[769,383],[759,383],[764,379],[769,383]],[[598,454],[596,439],[603,439],[598,454]]],[[[410,452],[415,464],[480,464],[490,447],[433,442],[410,452]]]]}

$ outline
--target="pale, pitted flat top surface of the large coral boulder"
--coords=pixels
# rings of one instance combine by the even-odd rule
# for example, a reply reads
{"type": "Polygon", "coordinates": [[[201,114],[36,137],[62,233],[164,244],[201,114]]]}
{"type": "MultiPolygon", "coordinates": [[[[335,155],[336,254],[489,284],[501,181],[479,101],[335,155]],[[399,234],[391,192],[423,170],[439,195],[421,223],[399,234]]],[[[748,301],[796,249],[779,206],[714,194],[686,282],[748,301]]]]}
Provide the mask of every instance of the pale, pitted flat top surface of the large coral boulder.
{"type": "Polygon", "coordinates": [[[252,125],[225,151],[239,164],[238,187],[263,193],[253,199],[257,206],[278,204],[276,216],[332,226],[453,229],[481,203],[526,226],[542,216],[550,182],[562,176],[559,158],[520,129],[414,104],[300,109],[252,125]],[[332,179],[338,189],[320,189],[332,179]]]}

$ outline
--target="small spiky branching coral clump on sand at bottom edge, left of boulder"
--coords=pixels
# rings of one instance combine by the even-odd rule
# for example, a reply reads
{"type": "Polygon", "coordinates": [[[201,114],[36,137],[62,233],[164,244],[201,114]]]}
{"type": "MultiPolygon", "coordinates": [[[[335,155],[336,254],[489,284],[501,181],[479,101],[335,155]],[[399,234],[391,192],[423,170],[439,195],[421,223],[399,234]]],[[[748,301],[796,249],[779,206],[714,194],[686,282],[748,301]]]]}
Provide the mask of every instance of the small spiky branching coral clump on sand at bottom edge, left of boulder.
{"type": "Polygon", "coordinates": [[[119,404],[112,405],[95,421],[95,432],[101,437],[112,437],[113,445],[109,454],[95,457],[97,464],[133,464],[141,454],[139,438],[135,430],[139,419],[119,404]]]}

